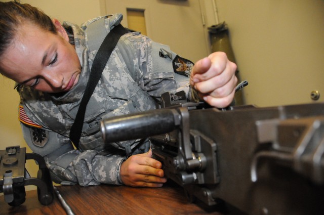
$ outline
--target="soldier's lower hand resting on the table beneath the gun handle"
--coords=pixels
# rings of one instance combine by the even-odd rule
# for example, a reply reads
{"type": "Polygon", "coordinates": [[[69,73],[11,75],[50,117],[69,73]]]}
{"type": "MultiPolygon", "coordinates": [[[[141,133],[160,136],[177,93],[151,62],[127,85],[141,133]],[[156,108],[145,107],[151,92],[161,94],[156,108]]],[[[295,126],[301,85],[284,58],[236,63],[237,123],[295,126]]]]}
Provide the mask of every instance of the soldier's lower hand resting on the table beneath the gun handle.
{"type": "Polygon", "coordinates": [[[121,163],[120,178],[132,187],[162,187],[167,182],[161,162],[151,158],[151,149],[143,154],[132,155],[121,163]]]}

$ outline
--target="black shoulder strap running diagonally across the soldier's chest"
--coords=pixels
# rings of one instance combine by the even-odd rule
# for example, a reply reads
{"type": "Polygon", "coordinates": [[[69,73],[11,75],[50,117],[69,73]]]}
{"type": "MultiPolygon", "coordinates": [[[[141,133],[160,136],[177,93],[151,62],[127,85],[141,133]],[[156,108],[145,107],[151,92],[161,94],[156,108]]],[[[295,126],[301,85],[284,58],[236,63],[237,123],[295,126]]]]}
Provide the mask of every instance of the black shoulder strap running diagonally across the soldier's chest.
{"type": "Polygon", "coordinates": [[[70,140],[72,141],[73,145],[78,148],[79,140],[81,137],[82,127],[85,119],[85,113],[87,104],[92,96],[97,83],[101,77],[102,71],[105,68],[107,61],[115,48],[120,36],[129,32],[120,24],[115,26],[105,37],[103,40],[96,57],[93,61],[90,77],[85,89],[85,93],[82,97],[82,100],[79,105],[79,109],[77,110],[74,123],[70,130],[70,140]]]}

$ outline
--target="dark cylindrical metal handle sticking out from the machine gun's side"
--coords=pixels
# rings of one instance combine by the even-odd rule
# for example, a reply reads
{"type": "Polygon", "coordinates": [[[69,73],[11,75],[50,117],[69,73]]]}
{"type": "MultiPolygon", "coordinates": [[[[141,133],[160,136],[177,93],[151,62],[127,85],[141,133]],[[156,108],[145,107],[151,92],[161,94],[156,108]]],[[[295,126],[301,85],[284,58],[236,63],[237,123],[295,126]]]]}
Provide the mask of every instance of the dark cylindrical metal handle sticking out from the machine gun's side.
{"type": "Polygon", "coordinates": [[[175,109],[157,109],[104,119],[101,132],[105,143],[135,140],[171,132],[180,119],[175,109]]]}

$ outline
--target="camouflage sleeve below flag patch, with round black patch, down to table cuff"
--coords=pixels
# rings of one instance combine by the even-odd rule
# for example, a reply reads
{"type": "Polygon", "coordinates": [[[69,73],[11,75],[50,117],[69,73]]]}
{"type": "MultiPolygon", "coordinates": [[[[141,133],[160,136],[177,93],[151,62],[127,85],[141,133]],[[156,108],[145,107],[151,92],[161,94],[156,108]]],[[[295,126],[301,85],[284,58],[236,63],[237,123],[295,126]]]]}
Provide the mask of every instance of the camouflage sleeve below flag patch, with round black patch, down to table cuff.
{"type": "Polygon", "coordinates": [[[75,150],[67,137],[21,123],[30,149],[44,157],[52,180],[62,185],[121,185],[119,168],[126,159],[119,155],[104,156],[94,150],[75,150]]]}

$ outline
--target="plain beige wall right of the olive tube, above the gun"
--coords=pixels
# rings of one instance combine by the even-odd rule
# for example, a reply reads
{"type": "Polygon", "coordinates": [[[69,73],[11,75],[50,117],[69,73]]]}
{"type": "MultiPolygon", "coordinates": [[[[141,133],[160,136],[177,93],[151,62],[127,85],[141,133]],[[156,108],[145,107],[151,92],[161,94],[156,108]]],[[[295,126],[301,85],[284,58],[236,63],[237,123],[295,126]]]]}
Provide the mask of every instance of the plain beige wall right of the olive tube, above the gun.
{"type": "Polygon", "coordinates": [[[229,26],[246,102],[258,106],[324,101],[323,0],[216,0],[229,26]]]}

